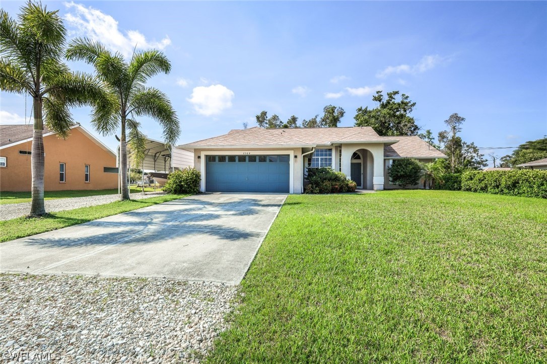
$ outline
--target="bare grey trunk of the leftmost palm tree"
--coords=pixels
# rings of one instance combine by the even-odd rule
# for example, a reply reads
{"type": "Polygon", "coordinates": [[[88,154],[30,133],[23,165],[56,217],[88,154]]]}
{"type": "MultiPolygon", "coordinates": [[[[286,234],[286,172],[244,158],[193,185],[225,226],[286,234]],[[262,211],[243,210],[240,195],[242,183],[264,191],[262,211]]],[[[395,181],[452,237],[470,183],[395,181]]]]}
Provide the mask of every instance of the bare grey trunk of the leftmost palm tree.
{"type": "Polygon", "coordinates": [[[32,133],[32,204],[31,216],[45,215],[44,206],[44,124],[42,122],[42,102],[34,98],[34,125],[32,133]]]}

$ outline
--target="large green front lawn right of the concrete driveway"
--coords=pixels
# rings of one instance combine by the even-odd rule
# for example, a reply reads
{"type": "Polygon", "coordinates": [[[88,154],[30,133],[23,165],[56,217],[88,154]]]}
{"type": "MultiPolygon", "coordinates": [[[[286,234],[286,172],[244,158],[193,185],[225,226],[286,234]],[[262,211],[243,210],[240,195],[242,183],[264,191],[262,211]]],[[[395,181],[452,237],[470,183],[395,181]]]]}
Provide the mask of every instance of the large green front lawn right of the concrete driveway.
{"type": "Polygon", "coordinates": [[[292,195],[210,362],[545,362],[547,200],[292,195]]]}

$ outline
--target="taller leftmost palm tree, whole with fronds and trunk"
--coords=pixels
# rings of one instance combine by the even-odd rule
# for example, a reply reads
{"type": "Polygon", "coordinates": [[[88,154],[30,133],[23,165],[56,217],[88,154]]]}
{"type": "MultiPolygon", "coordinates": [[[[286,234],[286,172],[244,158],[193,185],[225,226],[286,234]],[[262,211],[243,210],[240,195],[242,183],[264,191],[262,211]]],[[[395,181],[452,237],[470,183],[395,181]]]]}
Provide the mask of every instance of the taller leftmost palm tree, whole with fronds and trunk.
{"type": "Polygon", "coordinates": [[[58,13],[29,1],[15,21],[0,9],[0,90],[30,95],[33,101],[31,216],[45,214],[44,125],[67,137],[74,125],[70,107],[100,99],[108,104],[99,81],[70,72],[62,62],[66,30],[58,13]]]}

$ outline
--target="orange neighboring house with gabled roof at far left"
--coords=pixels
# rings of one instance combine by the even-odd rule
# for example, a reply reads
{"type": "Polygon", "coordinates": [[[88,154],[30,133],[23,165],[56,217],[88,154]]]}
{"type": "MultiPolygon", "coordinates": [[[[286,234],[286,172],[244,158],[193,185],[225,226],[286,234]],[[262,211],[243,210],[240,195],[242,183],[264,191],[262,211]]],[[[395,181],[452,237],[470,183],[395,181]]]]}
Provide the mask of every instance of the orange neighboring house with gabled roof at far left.
{"type": "MultiPolygon", "coordinates": [[[[0,125],[0,191],[31,191],[32,133],[32,125],[0,125]]],[[[115,153],[82,126],[66,139],[43,136],[45,191],[117,188],[115,153]]]]}

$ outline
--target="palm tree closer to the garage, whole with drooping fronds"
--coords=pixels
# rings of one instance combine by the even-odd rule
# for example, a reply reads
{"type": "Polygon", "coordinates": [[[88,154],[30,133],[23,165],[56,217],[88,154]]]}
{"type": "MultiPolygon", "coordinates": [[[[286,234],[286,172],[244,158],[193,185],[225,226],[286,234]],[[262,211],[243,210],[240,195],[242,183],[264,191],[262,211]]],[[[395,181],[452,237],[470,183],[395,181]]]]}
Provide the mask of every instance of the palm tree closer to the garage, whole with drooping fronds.
{"type": "Polygon", "coordinates": [[[158,50],[133,53],[126,62],[119,52],[112,53],[104,45],[86,38],[74,39],[68,46],[69,60],[82,60],[95,67],[101,79],[116,99],[115,104],[97,103],[92,124],[103,135],[112,134],[121,128],[120,169],[121,199],[129,199],[127,185],[127,141],[129,137],[133,161],[143,158],[144,136],[139,131],[137,116],[149,116],[163,128],[165,143],[173,144],[181,128],[171,102],[154,87],[147,87],[146,81],[154,75],[171,72],[171,62],[158,50]]]}

